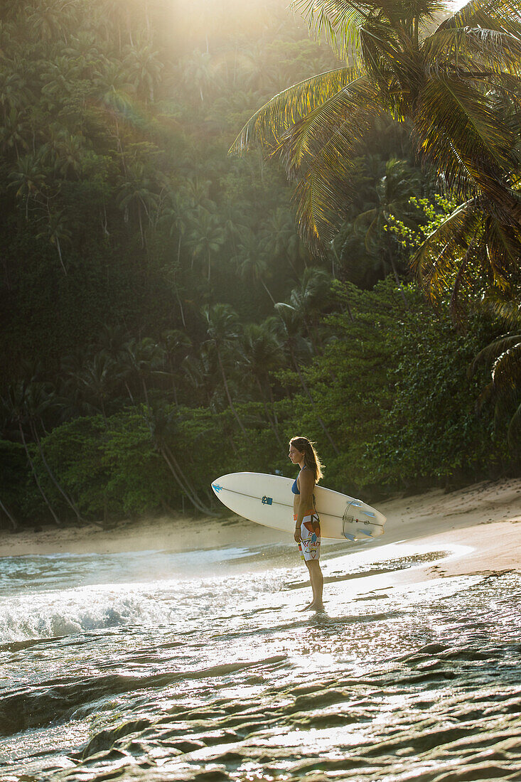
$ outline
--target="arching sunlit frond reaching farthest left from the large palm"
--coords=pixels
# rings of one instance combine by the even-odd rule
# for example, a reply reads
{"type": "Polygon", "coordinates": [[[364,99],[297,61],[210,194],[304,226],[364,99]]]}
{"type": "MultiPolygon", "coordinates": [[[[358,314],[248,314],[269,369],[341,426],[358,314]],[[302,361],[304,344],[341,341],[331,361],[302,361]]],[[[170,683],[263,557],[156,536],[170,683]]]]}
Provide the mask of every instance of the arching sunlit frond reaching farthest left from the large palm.
{"type": "Polygon", "coordinates": [[[277,146],[289,127],[337,95],[359,75],[358,70],[352,67],[338,68],[279,92],[250,117],[235,138],[229,154],[240,154],[254,142],[268,147],[277,146]]]}

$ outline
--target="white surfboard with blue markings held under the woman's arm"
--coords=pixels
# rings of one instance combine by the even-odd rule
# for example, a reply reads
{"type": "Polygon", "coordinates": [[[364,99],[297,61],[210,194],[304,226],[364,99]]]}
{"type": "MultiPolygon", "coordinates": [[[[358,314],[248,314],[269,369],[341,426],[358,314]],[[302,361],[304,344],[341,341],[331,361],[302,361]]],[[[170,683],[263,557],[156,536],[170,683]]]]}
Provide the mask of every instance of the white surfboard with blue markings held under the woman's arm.
{"type": "MultiPolygon", "coordinates": [[[[216,496],[252,522],[293,533],[293,480],[264,472],[230,472],[212,482],[216,496]]],[[[322,537],[368,540],[383,535],[386,517],[362,500],[315,486],[315,508],[322,537]]]]}

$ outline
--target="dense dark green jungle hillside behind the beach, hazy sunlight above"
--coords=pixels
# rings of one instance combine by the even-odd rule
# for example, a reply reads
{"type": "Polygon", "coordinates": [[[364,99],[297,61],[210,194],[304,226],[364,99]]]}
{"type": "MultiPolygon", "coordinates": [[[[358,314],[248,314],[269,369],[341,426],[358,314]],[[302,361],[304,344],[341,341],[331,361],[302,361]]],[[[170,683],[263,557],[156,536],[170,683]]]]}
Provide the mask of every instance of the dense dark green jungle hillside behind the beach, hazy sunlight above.
{"type": "Polygon", "coordinates": [[[217,513],[210,481],[289,475],[296,434],[369,501],[519,470],[474,361],[505,323],[410,271],[447,201],[407,126],[375,120],[319,257],[282,170],[228,156],[338,64],[286,5],[0,6],[2,526],[217,513]]]}

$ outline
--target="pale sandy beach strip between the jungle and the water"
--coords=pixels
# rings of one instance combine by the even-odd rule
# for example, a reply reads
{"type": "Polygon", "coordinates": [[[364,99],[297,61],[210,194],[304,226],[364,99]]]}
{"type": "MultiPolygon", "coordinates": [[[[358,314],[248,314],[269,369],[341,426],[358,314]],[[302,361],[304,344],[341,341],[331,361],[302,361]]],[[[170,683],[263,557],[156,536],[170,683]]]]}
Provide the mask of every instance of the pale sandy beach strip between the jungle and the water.
{"type": "MultiPolygon", "coordinates": [[[[387,517],[386,533],[366,547],[364,553],[371,561],[387,558],[390,544],[393,551],[414,543],[422,551],[450,552],[439,565],[426,562],[394,574],[394,583],[521,569],[521,479],[480,482],[451,493],[431,490],[388,500],[378,508],[387,517]]],[[[271,530],[270,536],[275,543],[287,542],[284,533],[271,530]]],[[[219,520],[154,518],[122,522],[106,530],[87,524],[4,533],[0,556],[191,551],[265,542],[266,528],[234,515],[219,520]]],[[[342,545],[349,554],[349,543],[342,545]]]]}

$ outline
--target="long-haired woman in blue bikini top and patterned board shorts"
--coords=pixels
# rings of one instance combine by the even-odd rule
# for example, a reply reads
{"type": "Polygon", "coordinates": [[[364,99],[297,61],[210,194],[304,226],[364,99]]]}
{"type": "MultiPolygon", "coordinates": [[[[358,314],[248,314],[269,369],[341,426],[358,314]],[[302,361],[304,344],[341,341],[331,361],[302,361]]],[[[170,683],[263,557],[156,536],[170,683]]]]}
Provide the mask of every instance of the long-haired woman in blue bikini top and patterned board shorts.
{"type": "Polygon", "coordinates": [[[314,485],[322,478],[322,465],[313,443],[307,437],[289,440],[289,458],[300,466],[291,490],[293,492],[293,520],[295,540],[299,544],[300,557],[309,571],[313,600],[303,611],[321,611],[324,576],[320,569],[320,519],[314,508],[314,485]]]}

